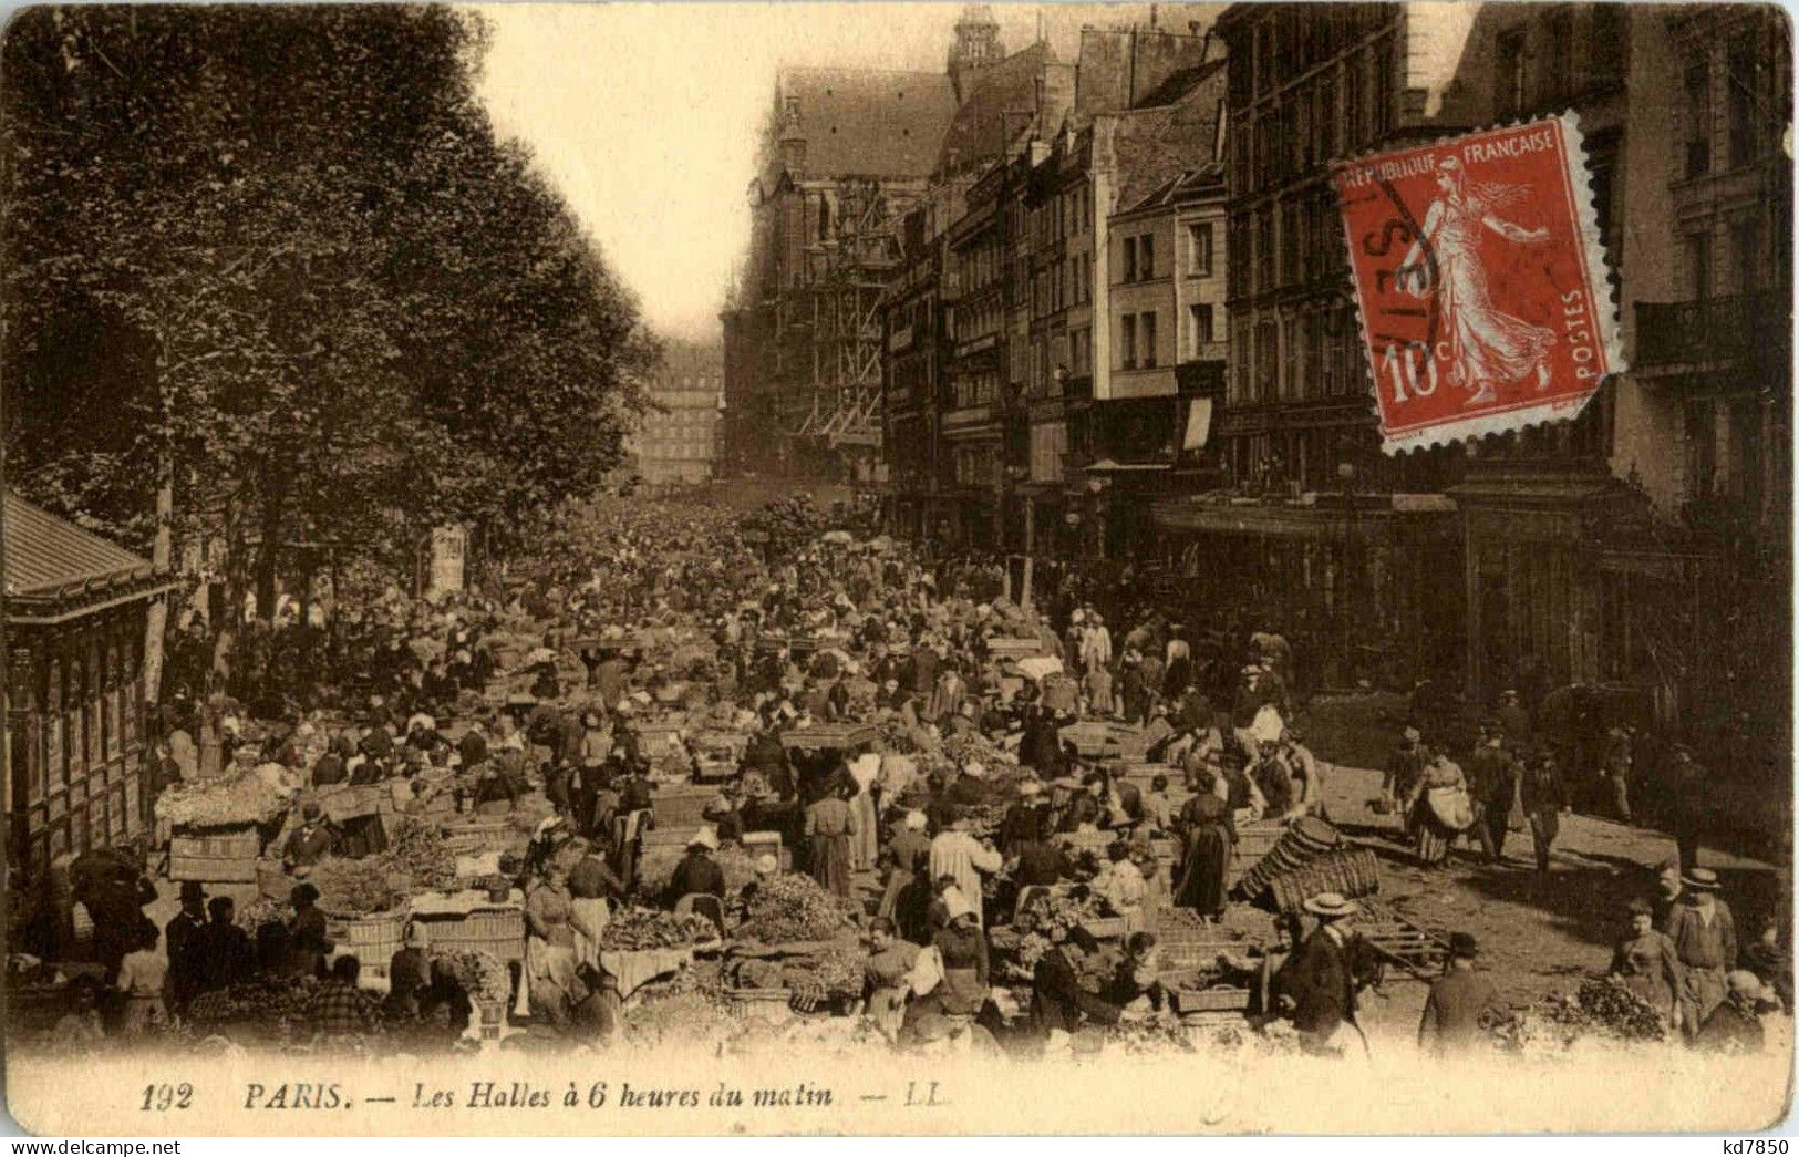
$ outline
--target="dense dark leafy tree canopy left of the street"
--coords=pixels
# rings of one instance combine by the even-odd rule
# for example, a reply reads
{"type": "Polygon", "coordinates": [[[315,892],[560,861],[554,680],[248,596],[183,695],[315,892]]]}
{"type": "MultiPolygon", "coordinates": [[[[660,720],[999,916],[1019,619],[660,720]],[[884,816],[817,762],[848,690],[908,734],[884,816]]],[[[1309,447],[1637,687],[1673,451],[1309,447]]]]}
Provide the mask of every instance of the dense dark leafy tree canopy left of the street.
{"type": "Polygon", "coordinates": [[[657,344],[497,140],[484,47],[443,7],[18,16],[0,317],[22,486],[128,542],[223,534],[228,596],[264,608],[284,543],[394,565],[446,516],[520,527],[597,486],[657,344]]]}

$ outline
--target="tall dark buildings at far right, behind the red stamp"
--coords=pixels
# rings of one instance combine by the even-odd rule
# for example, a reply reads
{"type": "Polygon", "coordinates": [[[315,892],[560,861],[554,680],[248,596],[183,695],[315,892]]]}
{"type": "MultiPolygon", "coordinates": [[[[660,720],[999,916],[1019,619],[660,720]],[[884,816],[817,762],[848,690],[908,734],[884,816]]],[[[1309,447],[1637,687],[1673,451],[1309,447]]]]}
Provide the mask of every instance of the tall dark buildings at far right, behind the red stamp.
{"type": "Polygon", "coordinates": [[[1234,498],[1166,504],[1160,522],[1310,632],[1313,677],[1441,675],[1477,696],[1612,684],[1617,711],[1664,731],[1718,736],[1756,709],[1786,734],[1786,648],[1749,642],[1790,637],[1788,599],[1770,596],[1790,587],[1792,493],[1774,450],[1790,432],[1790,250],[1767,241],[1792,221],[1781,18],[1241,4],[1218,29],[1234,498]],[[1328,160],[1563,110],[1628,371],[1574,421],[1382,455],[1328,160]]]}

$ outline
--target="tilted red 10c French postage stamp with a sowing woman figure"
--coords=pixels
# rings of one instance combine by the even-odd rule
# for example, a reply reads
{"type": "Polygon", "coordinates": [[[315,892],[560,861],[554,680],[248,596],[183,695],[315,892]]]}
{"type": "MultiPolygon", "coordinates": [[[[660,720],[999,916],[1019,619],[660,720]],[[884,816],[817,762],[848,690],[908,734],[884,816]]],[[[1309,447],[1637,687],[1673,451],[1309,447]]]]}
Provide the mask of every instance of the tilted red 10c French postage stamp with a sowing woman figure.
{"type": "Polygon", "coordinates": [[[1331,178],[1389,453],[1571,419],[1624,369],[1572,113],[1331,178]]]}

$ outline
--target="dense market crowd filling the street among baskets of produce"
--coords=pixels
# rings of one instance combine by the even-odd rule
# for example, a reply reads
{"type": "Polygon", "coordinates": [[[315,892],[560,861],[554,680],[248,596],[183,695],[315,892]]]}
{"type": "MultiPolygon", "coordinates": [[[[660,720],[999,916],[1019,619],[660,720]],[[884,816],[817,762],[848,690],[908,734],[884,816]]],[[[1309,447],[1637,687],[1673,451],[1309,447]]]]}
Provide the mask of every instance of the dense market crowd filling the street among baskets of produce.
{"type": "MultiPolygon", "coordinates": [[[[586,507],[538,545],[479,592],[394,597],[349,619],[329,671],[284,659],[318,653],[304,615],[248,635],[228,682],[205,666],[196,630],[171,659],[158,765],[166,781],[277,765],[311,788],[385,786],[401,813],[444,790],[457,812],[479,815],[540,797],[545,815],[504,873],[525,894],[520,991],[558,1031],[617,1031],[619,986],[599,959],[612,912],[651,903],[723,930],[781,864],[759,851],[757,880],[732,894],[718,849],[774,831],[793,869],[858,910],[862,1008],[894,1038],[1060,1044],[1083,1026],[1169,1008],[1144,914],[1162,903],[1200,925],[1225,919],[1245,822],[1329,819],[1329,767],[1293,722],[1293,646],[1268,624],[1193,630],[1117,592],[1083,597],[1092,592],[1079,583],[1020,605],[991,560],[926,561],[849,534],[757,549],[723,513],[676,516],[658,504],[586,507]],[[308,680],[336,691],[320,696],[308,680]],[[529,691],[515,689],[524,680],[529,691]],[[640,723],[676,709],[682,729],[646,750],[640,723]],[[1141,761],[1160,768],[1146,781],[1123,774],[1081,741],[1083,727],[1128,732],[1141,761]],[[651,885],[644,837],[658,785],[720,758],[707,732],[738,736],[732,774],[667,880],[651,885]],[[1029,1009],[1004,1017],[989,936],[1033,892],[1058,891],[1097,898],[1132,932],[1114,946],[1079,925],[1058,928],[1031,966],[1029,1009]]],[[[1515,695],[1459,763],[1405,727],[1382,799],[1419,864],[1443,866],[1463,840],[1502,864],[1522,813],[1536,871],[1551,871],[1571,799],[1554,745],[1538,740],[1515,695]]],[[[279,855],[304,874],[387,839],[380,815],[331,822],[306,804],[279,855]]],[[[1754,1045],[1741,1011],[1765,999],[1790,1006],[1779,925],[1765,921],[1767,936],[1740,952],[1691,839],[1671,873],[1664,910],[1632,910],[1610,972],[1691,1040],[1754,1045]]],[[[331,959],[308,883],[293,889],[275,946],[236,927],[228,896],[198,885],[183,885],[182,912],[158,937],[130,918],[155,898],[142,860],[112,864],[79,898],[103,975],[83,986],[70,1033],[99,1031],[104,991],[122,1000],[117,1026],[139,1031],[266,970],[318,977],[322,1035],[356,1033],[372,1015],[356,975],[367,963],[331,959]]],[[[1268,950],[1284,963],[1254,1008],[1290,1020],[1306,1047],[1340,1051],[1380,961],[1353,932],[1355,898],[1322,892],[1304,912],[1315,928],[1281,925],[1284,943],[1268,950]]],[[[1421,1044],[1470,1044],[1502,1011],[1477,954],[1473,937],[1452,937],[1421,1044]]],[[[421,930],[389,975],[389,1015],[466,1027],[466,981],[434,966],[421,930]]]]}

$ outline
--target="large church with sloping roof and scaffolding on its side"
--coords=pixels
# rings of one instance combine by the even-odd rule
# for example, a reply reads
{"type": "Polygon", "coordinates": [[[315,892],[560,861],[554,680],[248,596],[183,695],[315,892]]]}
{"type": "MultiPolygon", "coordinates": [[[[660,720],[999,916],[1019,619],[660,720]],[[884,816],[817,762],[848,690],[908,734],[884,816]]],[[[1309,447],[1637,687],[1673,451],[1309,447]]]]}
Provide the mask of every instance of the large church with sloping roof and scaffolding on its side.
{"type": "Polygon", "coordinates": [[[732,468],[878,477],[876,309],[955,110],[939,72],[777,76],[750,254],[721,315],[732,468]]]}

